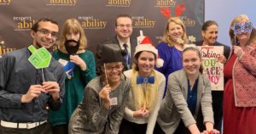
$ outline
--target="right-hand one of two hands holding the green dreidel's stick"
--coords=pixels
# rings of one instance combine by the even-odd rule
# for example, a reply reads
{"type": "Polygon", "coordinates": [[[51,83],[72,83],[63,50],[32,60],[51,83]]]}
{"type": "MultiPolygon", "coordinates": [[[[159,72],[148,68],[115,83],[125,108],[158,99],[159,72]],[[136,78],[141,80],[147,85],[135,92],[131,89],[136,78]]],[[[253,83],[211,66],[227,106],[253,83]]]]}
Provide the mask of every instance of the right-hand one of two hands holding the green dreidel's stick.
{"type": "Polygon", "coordinates": [[[43,88],[46,92],[48,92],[54,101],[58,101],[60,98],[60,87],[56,81],[45,81],[43,82],[43,88]]]}

